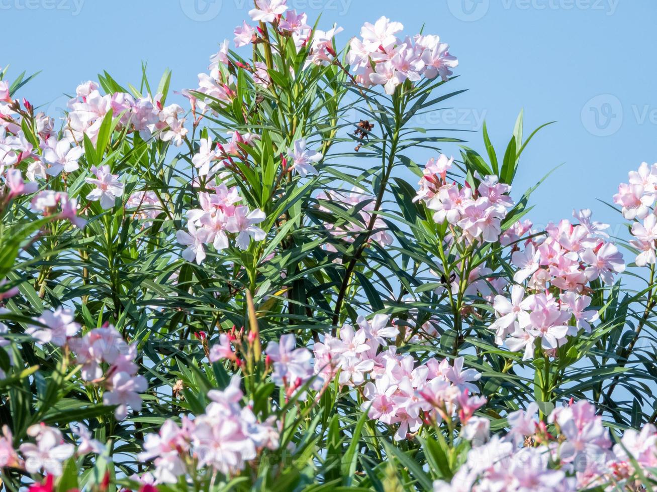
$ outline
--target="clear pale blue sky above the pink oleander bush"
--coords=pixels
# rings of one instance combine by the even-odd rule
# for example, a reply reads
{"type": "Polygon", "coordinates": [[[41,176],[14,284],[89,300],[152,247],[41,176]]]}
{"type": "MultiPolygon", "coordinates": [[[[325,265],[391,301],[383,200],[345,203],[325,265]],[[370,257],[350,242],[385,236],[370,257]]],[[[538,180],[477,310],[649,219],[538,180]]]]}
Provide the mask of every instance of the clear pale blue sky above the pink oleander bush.
{"type": "MultiPolygon", "coordinates": [[[[0,66],[9,77],[43,72],[22,90],[34,104],[61,105],[79,82],[107,70],[137,83],[142,60],[156,79],[173,70],[172,89],[196,87],[208,56],[248,18],[247,0],[0,0],[5,43],[0,66]]],[[[381,15],[405,32],[436,33],[459,57],[453,112],[428,125],[480,130],[485,117],[503,152],[515,117],[525,110],[526,134],[542,131],[522,159],[515,195],[564,163],[536,192],[537,224],[590,207],[612,225],[618,182],[641,161],[657,161],[657,52],[654,0],[288,0],[321,25],[344,28],[339,44],[363,21],[381,15]],[[518,190],[522,188],[522,190],[518,190]]],[[[448,86],[449,87],[449,86],[448,86]]],[[[422,121],[419,122],[420,124],[422,121]]],[[[481,150],[480,133],[464,137],[481,150]]],[[[446,149],[457,154],[457,148],[446,149]]],[[[430,157],[427,155],[426,157],[430,157]]],[[[420,159],[418,159],[420,160],[420,159]]]]}

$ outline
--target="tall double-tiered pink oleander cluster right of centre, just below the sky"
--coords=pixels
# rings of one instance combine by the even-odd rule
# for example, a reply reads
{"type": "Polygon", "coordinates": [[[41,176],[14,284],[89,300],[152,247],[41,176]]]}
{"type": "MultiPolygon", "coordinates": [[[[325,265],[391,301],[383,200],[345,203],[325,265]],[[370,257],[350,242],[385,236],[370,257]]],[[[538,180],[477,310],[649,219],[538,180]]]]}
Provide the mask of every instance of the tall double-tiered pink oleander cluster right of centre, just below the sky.
{"type": "Polygon", "coordinates": [[[532,358],[538,346],[555,356],[568,337],[591,333],[598,313],[589,307],[587,284],[613,283],[625,270],[622,254],[604,232],[608,225],[593,221],[587,209],[573,215],[575,224],[561,220],[544,232],[532,231],[528,222],[516,223],[501,239],[511,245],[511,263],[518,270],[510,297],[493,300],[497,319],[490,329],[497,344],[524,352],[523,359],[532,358]],[[528,232],[530,239],[518,239],[528,232]]]}

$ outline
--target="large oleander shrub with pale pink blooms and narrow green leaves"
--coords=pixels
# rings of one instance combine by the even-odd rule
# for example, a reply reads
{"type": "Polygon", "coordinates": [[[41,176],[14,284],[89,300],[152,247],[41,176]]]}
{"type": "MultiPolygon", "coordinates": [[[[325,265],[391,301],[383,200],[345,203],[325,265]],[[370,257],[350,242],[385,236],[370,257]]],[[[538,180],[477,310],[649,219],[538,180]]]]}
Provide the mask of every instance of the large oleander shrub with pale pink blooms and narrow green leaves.
{"type": "Polygon", "coordinates": [[[652,489],[657,164],[629,234],[534,226],[522,114],[413,127],[461,92],[437,35],[249,16],[173,95],[0,73],[3,486],[652,489]]]}

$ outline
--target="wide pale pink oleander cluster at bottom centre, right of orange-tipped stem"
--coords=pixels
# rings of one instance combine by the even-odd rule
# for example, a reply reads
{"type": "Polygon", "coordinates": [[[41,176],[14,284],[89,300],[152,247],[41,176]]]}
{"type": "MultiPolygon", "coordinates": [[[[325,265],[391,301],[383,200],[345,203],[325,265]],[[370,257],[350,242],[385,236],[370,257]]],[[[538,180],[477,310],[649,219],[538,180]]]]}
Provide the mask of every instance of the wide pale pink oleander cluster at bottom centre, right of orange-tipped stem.
{"type": "Polygon", "coordinates": [[[464,359],[428,359],[419,364],[411,355],[397,353],[392,344],[399,329],[388,316],[358,318],[358,329],[344,325],[339,337],[325,333],[313,346],[314,367],[324,380],[338,377],[339,384],[357,387],[363,394],[361,411],[382,424],[395,425],[394,439],[405,440],[424,422],[441,422],[459,415],[466,424],[486,403],[473,383],[481,374],[463,369],[464,359]]]}

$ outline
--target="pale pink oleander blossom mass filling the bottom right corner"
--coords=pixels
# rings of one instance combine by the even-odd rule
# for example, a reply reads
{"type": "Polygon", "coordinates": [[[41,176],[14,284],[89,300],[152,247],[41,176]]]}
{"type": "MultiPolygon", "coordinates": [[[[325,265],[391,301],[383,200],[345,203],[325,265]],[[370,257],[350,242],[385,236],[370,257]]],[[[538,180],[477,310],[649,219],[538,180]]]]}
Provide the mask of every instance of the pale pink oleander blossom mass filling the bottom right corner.
{"type": "Polygon", "coordinates": [[[434,483],[434,491],[535,490],[579,491],[632,489],[628,478],[639,467],[652,474],[657,458],[657,430],[646,424],[641,432],[628,429],[612,444],[602,418],[585,400],[557,407],[537,420],[538,406],[509,414],[510,430],[490,436],[487,429],[451,482],[434,483]],[[605,487],[607,483],[609,485],[605,487]],[[626,488],[629,487],[629,488],[626,488]]]}

